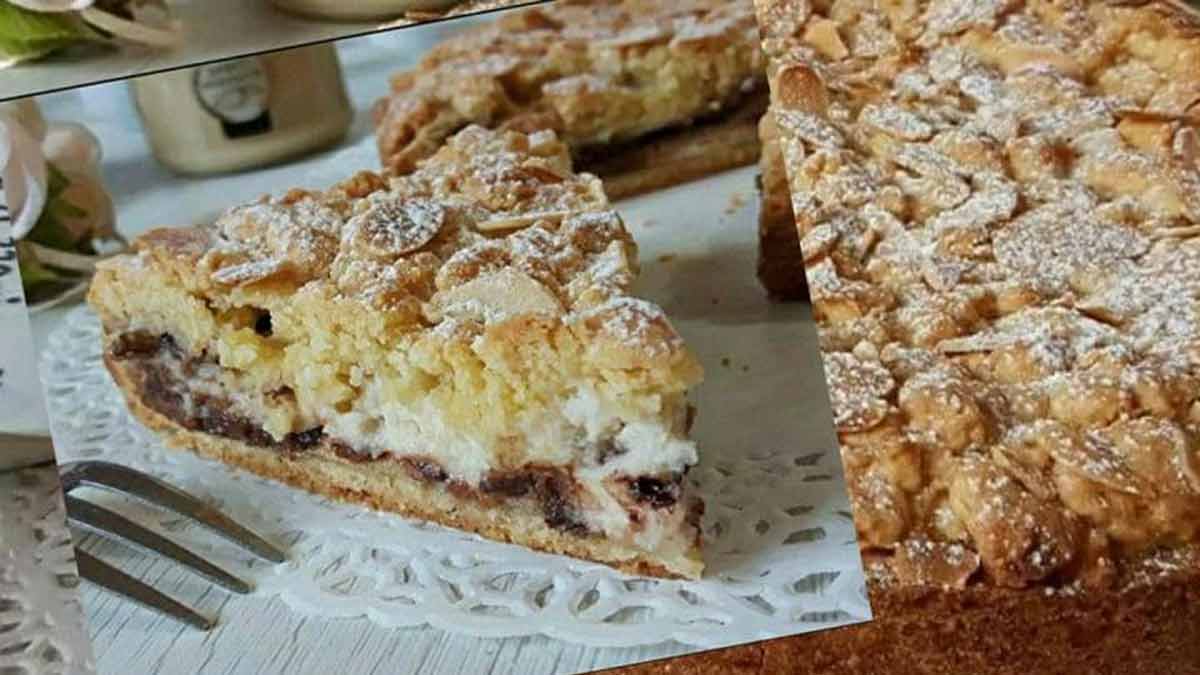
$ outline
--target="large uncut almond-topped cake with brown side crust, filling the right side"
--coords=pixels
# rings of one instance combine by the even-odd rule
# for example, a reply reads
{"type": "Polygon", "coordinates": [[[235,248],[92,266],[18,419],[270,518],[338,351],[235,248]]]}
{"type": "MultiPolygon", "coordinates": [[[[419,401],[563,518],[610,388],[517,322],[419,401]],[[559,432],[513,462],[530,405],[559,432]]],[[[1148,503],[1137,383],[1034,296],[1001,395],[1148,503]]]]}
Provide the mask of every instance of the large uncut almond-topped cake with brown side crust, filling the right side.
{"type": "Polygon", "coordinates": [[[1200,20],[757,6],[876,619],[629,673],[1200,673],[1200,20]]]}

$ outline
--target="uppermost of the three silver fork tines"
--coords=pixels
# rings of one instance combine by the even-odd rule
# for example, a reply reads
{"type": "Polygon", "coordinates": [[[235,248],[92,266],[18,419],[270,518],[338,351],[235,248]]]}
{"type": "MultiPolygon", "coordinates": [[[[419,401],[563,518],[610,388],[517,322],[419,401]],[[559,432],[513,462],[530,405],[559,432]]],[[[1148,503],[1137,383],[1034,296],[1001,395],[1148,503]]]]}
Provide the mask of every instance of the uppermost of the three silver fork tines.
{"type": "Polygon", "coordinates": [[[234,522],[220,510],[139,471],[107,461],[77,461],[62,467],[61,478],[64,492],[70,492],[78,485],[90,485],[130,495],[191,518],[260,558],[271,562],[287,560],[283,551],[234,522]]]}

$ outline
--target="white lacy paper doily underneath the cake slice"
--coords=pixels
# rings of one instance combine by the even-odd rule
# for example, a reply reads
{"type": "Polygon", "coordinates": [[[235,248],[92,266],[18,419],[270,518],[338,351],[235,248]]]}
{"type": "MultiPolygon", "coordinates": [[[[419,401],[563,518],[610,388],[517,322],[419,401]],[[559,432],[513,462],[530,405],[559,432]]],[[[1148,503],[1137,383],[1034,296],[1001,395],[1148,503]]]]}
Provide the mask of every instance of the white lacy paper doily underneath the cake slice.
{"type": "Polygon", "coordinates": [[[642,250],[640,293],[666,309],[707,370],[695,396],[701,464],[689,476],[707,502],[701,581],[635,579],[164,449],[126,412],[101,364],[97,322],[83,309],[42,359],[60,461],[118,461],[211,497],[286,544],[290,562],[265,566],[186,521],[110,504],[311,615],[590,646],[673,639],[702,647],[868,620],[811,321],[803,307],[768,303],[754,280],[755,213],[739,192],[752,177],[732,172],[620,205],[642,250]],[[689,235],[664,222],[686,225],[689,235]]]}

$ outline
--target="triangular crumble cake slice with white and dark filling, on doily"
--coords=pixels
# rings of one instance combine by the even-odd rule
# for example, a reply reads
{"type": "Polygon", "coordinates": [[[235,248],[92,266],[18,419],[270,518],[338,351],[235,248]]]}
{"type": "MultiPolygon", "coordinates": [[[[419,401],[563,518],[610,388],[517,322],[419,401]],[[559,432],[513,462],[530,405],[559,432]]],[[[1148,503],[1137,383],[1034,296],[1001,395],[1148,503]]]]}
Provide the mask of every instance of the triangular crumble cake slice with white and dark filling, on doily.
{"type": "Polygon", "coordinates": [[[156,229],[89,301],[172,446],[342,500],[696,578],[701,368],[553,132],[468,127],[413,172],[156,229]]]}

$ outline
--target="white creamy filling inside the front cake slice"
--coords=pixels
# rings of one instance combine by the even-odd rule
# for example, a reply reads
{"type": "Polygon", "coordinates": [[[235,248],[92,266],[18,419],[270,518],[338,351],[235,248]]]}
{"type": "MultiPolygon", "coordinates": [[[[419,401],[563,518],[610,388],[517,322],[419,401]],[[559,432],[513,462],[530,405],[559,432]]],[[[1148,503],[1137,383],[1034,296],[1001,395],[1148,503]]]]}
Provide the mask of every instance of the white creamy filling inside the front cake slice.
{"type": "MultiPolygon", "coordinates": [[[[181,392],[185,410],[196,408],[194,396],[204,394],[229,401],[234,412],[248,419],[263,422],[272,417],[263,395],[239,388],[232,371],[202,363],[186,374],[175,357],[160,354],[155,360],[172,378],[187,382],[181,392]]],[[[472,429],[448,424],[432,399],[401,405],[386,400],[383,390],[379,382],[368,380],[349,411],[329,408],[305,418],[311,417],[314,425],[322,424],[325,434],[355,452],[427,456],[470,485],[478,485],[496,467],[499,438],[484,438],[472,429]]],[[[679,413],[685,414],[682,410],[679,413]]],[[[641,522],[635,527],[626,508],[605,484],[613,476],[676,473],[694,465],[695,443],[673,431],[683,428],[680,420],[665,416],[623,418],[617,405],[589,383],[580,383],[559,408],[548,407],[517,426],[540,461],[576,467],[583,490],[580,515],[590,528],[647,550],[684,555],[690,549],[690,534],[683,527],[686,503],[680,501],[668,509],[638,508],[641,522]],[[611,448],[604,462],[596,461],[600,444],[611,448]]],[[[269,431],[277,437],[288,432],[269,431]]]]}

